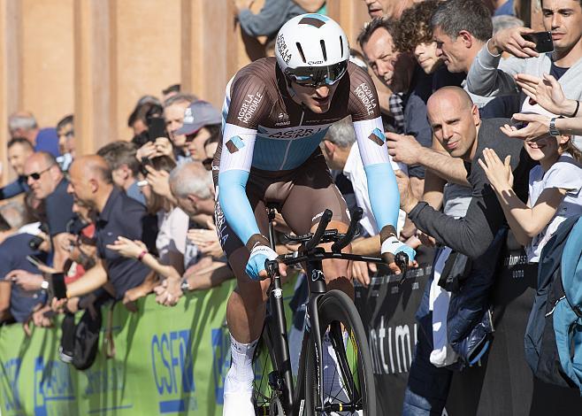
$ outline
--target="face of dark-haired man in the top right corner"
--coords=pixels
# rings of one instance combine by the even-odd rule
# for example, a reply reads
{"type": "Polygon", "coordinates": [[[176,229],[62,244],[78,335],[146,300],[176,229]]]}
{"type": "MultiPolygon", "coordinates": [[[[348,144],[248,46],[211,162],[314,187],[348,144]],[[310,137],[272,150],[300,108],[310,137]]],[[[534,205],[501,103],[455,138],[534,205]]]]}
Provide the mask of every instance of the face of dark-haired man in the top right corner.
{"type": "Polygon", "coordinates": [[[544,27],[552,32],[557,51],[571,50],[582,37],[582,6],[579,0],[543,0],[544,27]]]}

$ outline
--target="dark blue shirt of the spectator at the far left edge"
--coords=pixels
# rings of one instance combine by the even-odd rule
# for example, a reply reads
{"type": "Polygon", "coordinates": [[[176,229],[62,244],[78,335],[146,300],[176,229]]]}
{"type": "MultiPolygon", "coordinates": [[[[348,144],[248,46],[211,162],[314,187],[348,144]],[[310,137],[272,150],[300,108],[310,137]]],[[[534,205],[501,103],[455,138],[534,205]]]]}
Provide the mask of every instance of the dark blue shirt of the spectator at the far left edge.
{"type": "MultiPolygon", "coordinates": [[[[6,274],[12,270],[26,270],[30,273],[40,274],[40,270],[27,260],[27,256],[40,258],[46,261],[46,253],[34,251],[28,246],[28,242],[33,238],[30,234],[17,234],[8,237],[4,243],[0,244],[0,280],[4,280],[6,274]]],[[[17,322],[24,322],[33,312],[36,304],[43,304],[46,301],[46,294],[43,290],[27,292],[16,284],[11,285],[10,312],[12,318],[17,322]]]]}

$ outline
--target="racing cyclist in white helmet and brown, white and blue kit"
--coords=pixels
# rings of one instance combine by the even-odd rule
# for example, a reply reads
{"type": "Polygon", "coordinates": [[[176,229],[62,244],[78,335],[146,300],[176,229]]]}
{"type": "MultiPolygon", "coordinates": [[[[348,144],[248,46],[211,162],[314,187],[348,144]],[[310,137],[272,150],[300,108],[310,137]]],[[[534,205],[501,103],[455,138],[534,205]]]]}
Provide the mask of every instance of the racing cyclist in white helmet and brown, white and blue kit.
{"type": "MultiPolygon", "coordinates": [[[[275,55],[245,66],[228,82],[223,143],[213,161],[218,237],[238,283],[226,309],[232,351],[224,385],[227,416],[255,412],[251,363],[269,283],[259,280],[267,277],[265,260],[277,257],[264,236],[265,204],[280,204],[297,235],[313,231],[326,208],[333,211],[328,227],[347,230],[345,201],[319,150],[332,123],[347,116],[353,120],[381,229],[379,249],[388,266],[398,272],[394,254],[404,251],[410,259],[415,254],[396,238],[400,198],[376,89],[368,73],[348,62],[348,38],[341,27],[322,15],[297,16],[281,27],[275,55]]],[[[353,297],[348,262],[325,260],[323,267],[328,287],[353,297]]],[[[280,273],[286,274],[284,265],[280,273]]]]}

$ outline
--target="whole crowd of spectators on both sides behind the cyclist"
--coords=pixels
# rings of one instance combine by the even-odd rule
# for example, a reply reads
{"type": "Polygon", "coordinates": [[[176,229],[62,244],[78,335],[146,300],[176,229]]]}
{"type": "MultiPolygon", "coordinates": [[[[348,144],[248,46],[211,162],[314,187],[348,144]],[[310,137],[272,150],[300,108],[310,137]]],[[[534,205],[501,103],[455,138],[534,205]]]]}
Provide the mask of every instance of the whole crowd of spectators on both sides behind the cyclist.
{"type": "MultiPolygon", "coordinates": [[[[538,262],[560,223],[582,214],[582,4],[541,1],[554,43],[542,53],[511,0],[364,3],[371,21],[352,45],[362,54],[355,49],[351,59],[390,92],[382,108],[401,193],[400,238],[421,252],[438,246],[428,259],[434,276],[419,305],[404,412],[440,414],[450,368],[467,360],[446,327],[466,335],[487,319],[491,253],[508,226],[538,262]],[[440,286],[453,254],[472,265],[463,295],[440,286]],[[463,323],[448,320],[459,297],[455,307],[471,315],[463,323]]],[[[235,4],[242,31],[268,40],[295,15],[325,13],[324,1],[266,0],[258,13],[249,11],[252,1],[235,4]]],[[[131,140],[94,155],[76,153],[82,138],[73,115],[44,129],[28,112],[11,115],[7,151],[17,179],[0,189],[0,198],[13,198],[0,206],[3,322],[50,326],[55,313],[77,312],[84,299],[119,300],[134,310],[136,299],[153,293],[174,305],[190,290],[233,277],[213,219],[211,162],[222,116],[178,84],[161,96],[135,105],[131,140]],[[59,273],[63,299],[52,297],[50,276],[59,273]]],[[[321,151],[348,207],[364,209],[353,250],[379,254],[351,120],[330,127],[321,151]]],[[[374,272],[352,265],[364,286],[374,272]]]]}

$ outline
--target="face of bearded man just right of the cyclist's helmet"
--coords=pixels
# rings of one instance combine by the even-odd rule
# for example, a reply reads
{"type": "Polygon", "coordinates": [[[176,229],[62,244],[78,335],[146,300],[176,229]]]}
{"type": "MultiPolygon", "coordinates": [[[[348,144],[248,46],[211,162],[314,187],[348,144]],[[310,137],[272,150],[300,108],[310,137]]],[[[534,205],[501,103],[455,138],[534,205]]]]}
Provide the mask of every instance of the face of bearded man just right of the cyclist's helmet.
{"type": "Polygon", "coordinates": [[[364,44],[364,55],[374,74],[394,92],[409,89],[414,59],[408,53],[394,50],[392,35],[384,28],[374,31],[370,40],[364,44]]]}

